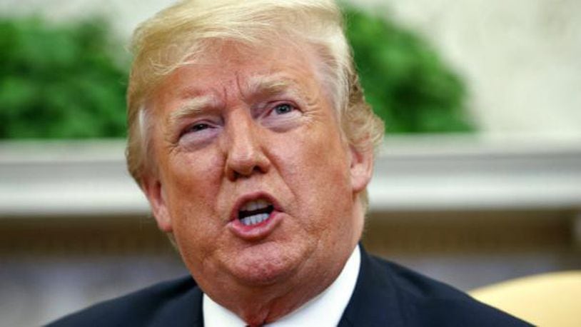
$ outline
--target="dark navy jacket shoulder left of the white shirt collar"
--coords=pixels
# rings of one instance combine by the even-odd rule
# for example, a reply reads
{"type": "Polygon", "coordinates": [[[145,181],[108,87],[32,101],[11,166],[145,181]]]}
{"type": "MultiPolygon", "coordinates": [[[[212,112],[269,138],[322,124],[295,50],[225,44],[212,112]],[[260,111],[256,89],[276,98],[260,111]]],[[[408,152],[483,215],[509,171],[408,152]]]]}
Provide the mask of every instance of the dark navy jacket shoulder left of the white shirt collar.
{"type": "Polygon", "coordinates": [[[193,278],[187,276],[97,303],[49,323],[48,326],[157,326],[157,321],[163,325],[170,323],[166,326],[179,326],[186,319],[193,326],[201,318],[200,314],[195,314],[196,308],[199,313],[201,291],[193,278]],[[189,309],[180,312],[183,307],[189,309]],[[191,316],[188,316],[188,312],[191,316]],[[176,316],[181,317],[178,318],[181,321],[175,321],[176,316]],[[172,321],[176,323],[172,324],[172,321]]]}

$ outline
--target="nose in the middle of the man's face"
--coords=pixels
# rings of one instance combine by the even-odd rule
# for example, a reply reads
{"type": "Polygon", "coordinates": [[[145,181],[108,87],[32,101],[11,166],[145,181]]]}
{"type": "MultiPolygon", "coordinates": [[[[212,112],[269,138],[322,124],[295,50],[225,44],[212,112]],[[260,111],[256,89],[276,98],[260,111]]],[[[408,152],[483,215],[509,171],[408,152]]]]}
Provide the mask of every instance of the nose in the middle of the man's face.
{"type": "Polygon", "coordinates": [[[270,168],[263,141],[253,118],[244,112],[233,114],[226,129],[226,177],[231,181],[266,173],[270,168]]]}

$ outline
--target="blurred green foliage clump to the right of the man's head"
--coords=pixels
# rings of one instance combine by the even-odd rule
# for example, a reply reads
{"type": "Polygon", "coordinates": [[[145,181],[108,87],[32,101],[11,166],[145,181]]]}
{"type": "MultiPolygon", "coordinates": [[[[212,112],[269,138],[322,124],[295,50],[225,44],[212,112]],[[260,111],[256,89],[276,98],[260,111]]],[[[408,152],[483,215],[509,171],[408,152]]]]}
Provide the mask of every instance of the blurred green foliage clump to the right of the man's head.
{"type": "Polygon", "coordinates": [[[465,86],[418,34],[344,8],[365,98],[388,133],[472,131],[465,86]]]}

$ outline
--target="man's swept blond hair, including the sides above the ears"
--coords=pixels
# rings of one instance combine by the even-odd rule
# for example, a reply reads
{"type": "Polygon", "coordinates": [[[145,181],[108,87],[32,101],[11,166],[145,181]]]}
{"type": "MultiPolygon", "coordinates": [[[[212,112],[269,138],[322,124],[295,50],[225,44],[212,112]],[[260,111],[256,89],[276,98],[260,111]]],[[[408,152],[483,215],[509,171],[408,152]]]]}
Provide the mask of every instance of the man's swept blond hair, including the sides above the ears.
{"type": "Polygon", "coordinates": [[[259,48],[281,40],[310,45],[320,59],[321,82],[348,143],[376,149],[383,139],[383,122],[365,102],[343,33],[343,16],[333,0],[179,1],[144,21],[133,34],[126,150],[131,176],[141,185],[143,176],[153,172],[148,96],[168,74],[216,41],[259,48]]]}

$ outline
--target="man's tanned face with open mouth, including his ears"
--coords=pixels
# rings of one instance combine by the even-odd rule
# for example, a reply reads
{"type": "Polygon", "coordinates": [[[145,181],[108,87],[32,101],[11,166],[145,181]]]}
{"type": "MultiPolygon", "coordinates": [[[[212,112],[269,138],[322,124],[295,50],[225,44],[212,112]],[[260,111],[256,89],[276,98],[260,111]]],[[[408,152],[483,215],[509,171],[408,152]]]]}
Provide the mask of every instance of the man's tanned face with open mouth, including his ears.
{"type": "Polygon", "coordinates": [[[153,94],[158,225],[211,295],[325,279],[360,237],[370,154],[343,139],[307,47],[213,50],[153,94]]]}

